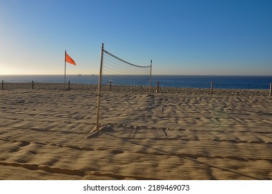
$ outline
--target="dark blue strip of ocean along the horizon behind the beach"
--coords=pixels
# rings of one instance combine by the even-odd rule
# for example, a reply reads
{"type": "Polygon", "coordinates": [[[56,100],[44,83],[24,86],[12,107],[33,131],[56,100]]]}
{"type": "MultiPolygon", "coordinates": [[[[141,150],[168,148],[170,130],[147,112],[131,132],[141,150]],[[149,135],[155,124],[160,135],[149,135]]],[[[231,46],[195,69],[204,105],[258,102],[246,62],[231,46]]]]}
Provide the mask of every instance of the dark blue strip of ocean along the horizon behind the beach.
{"type": "MultiPolygon", "coordinates": [[[[64,76],[0,76],[4,82],[64,82],[64,76]]],[[[67,82],[78,84],[97,85],[99,76],[97,75],[67,75],[67,82]]],[[[149,76],[105,76],[103,84],[108,85],[112,80],[112,85],[149,85],[149,76]]],[[[218,89],[269,89],[272,76],[152,76],[152,85],[156,86],[157,81],[160,87],[192,87],[210,88],[211,82],[214,88],[218,89]]]]}

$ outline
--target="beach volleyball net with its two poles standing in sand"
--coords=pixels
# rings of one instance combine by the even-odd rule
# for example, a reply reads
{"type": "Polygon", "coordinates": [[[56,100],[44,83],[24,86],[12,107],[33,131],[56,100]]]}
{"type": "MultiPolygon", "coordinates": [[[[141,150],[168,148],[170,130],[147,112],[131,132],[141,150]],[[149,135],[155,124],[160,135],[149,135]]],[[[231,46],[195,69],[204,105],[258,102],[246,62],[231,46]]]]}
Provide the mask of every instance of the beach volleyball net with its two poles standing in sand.
{"type": "Polygon", "coordinates": [[[91,134],[99,130],[99,107],[101,97],[101,87],[103,82],[110,82],[112,85],[145,85],[151,92],[152,60],[148,66],[139,66],[126,62],[112,53],[104,50],[104,44],[101,46],[99,85],[97,91],[97,110],[96,127],[91,134]],[[107,79],[108,78],[108,79],[107,79]]]}

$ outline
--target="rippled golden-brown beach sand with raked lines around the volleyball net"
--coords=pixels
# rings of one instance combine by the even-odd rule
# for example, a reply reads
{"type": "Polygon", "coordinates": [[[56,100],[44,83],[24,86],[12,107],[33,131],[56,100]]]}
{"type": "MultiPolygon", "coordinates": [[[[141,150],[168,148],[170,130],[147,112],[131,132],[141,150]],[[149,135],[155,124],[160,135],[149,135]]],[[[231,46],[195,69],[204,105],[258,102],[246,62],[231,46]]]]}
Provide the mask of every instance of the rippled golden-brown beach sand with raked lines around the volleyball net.
{"type": "Polygon", "coordinates": [[[52,88],[0,90],[0,179],[272,179],[268,91],[103,91],[90,136],[95,89],[52,88]]]}

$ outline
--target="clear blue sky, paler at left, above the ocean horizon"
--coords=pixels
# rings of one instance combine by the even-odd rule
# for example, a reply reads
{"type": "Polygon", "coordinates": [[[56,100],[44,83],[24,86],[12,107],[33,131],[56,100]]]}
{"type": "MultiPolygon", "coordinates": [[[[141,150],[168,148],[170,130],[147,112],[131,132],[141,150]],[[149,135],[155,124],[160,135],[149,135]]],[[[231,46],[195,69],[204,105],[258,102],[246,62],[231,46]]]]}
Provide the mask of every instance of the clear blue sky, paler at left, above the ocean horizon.
{"type": "Polygon", "coordinates": [[[153,74],[272,75],[272,1],[1,0],[0,75],[97,74],[105,50],[153,74]]]}

